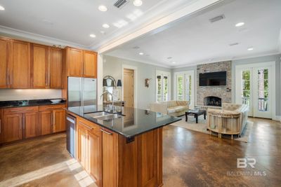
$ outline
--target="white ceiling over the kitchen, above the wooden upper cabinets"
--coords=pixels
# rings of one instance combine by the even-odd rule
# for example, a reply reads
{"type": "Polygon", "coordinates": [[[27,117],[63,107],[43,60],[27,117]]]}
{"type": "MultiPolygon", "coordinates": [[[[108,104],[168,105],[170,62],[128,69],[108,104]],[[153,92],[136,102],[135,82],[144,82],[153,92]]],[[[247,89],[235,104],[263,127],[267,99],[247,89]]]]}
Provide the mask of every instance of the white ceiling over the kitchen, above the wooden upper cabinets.
{"type": "Polygon", "coordinates": [[[197,0],[143,0],[143,6],[140,7],[133,6],[131,0],[121,9],[113,6],[116,1],[0,0],[0,5],[5,8],[5,11],[0,11],[0,32],[22,32],[30,34],[28,37],[34,34],[94,49],[197,0]],[[101,4],[107,6],[106,12],[98,11],[101,4]],[[134,15],[136,19],[130,20],[129,15],[134,15]],[[128,25],[122,28],[113,25],[122,20],[128,22],[128,25]],[[103,28],[105,23],[110,28],[103,28]],[[90,38],[89,34],[96,34],[96,38],[90,38]]]}

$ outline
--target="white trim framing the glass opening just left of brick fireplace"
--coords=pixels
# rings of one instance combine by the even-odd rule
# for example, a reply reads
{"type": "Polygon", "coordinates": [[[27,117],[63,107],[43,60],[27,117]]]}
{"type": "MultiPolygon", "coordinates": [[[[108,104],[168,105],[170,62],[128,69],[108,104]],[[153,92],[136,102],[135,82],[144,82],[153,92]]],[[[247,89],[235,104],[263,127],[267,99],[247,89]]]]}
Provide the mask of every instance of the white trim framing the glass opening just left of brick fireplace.
{"type": "Polygon", "coordinates": [[[195,107],[195,99],[196,99],[196,96],[195,96],[195,70],[190,70],[190,71],[178,71],[178,72],[175,72],[174,73],[174,100],[177,99],[177,85],[176,85],[176,77],[178,75],[183,75],[185,76],[185,74],[188,74],[191,76],[191,80],[192,80],[192,83],[191,83],[191,102],[190,102],[190,108],[193,109],[195,107]]]}

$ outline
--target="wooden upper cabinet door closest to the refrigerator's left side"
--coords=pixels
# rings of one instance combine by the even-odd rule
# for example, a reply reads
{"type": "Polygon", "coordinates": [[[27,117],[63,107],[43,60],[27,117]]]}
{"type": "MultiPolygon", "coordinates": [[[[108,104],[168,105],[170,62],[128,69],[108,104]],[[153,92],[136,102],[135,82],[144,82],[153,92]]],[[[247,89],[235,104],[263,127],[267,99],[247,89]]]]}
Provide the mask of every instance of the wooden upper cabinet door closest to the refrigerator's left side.
{"type": "Polygon", "coordinates": [[[50,53],[50,88],[62,88],[63,50],[59,48],[51,48],[50,53]]]}

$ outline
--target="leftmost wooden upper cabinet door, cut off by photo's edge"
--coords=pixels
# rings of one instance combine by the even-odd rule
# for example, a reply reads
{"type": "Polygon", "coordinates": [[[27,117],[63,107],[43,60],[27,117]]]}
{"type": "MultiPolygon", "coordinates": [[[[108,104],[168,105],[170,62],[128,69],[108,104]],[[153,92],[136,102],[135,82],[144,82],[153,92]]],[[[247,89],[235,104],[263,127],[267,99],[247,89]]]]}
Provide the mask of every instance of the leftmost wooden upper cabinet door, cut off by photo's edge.
{"type": "Polygon", "coordinates": [[[8,39],[0,38],[0,88],[8,88],[8,39]]]}

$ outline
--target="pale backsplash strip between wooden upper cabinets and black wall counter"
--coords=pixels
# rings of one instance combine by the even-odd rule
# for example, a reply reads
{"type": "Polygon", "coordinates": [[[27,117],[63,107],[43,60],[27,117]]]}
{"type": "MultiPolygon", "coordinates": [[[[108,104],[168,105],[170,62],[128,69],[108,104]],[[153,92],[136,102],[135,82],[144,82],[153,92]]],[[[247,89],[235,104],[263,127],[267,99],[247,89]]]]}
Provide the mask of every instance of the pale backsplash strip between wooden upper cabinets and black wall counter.
{"type": "Polygon", "coordinates": [[[59,89],[0,89],[0,101],[55,99],[62,97],[59,89]]]}

